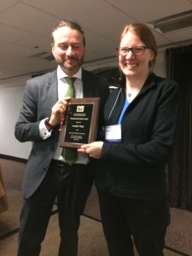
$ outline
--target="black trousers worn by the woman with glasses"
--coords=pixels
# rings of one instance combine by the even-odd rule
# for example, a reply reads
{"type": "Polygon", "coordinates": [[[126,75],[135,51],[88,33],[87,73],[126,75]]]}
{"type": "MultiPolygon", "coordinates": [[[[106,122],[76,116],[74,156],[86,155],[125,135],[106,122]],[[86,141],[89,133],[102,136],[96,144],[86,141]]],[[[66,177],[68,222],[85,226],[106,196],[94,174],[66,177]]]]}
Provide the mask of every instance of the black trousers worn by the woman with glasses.
{"type": "Polygon", "coordinates": [[[166,200],[136,200],[97,191],[110,256],[134,256],[133,241],[139,256],[164,255],[170,223],[166,200]]]}

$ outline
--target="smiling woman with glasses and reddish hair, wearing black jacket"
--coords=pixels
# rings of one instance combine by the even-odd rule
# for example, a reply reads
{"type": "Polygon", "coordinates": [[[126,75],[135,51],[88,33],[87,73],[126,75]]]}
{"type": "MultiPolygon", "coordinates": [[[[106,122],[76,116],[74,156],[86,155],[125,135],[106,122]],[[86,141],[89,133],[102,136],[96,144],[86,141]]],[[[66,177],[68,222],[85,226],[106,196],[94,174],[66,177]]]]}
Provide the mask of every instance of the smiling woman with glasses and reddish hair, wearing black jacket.
{"type": "Polygon", "coordinates": [[[125,26],[117,51],[125,81],[105,106],[105,140],[79,151],[100,159],[96,188],[109,255],[134,255],[134,241],[140,256],[162,256],[177,84],[153,73],[157,46],[148,26],[125,26]]]}

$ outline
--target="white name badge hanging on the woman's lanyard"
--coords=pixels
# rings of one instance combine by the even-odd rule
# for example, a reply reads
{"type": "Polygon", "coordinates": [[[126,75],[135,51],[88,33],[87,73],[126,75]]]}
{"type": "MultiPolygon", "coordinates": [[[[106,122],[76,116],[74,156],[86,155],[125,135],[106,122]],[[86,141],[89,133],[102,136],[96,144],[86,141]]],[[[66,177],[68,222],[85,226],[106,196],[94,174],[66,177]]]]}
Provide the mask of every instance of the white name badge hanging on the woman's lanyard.
{"type": "Polygon", "coordinates": [[[105,140],[108,143],[120,143],[121,142],[121,125],[106,126],[105,140]]]}

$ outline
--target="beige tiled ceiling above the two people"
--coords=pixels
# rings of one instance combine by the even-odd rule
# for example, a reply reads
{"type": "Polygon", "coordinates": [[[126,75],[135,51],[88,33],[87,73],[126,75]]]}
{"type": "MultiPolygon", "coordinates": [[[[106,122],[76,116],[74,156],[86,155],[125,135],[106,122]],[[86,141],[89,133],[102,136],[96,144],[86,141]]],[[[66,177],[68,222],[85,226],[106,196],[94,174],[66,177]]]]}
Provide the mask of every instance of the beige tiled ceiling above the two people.
{"type": "Polygon", "coordinates": [[[192,0],[1,0],[0,84],[56,67],[50,34],[58,20],[73,19],[83,27],[88,64],[113,58],[119,32],[131,22],[147,23],[159,49],[192,44],[192,26],[162,33],[151,22],[191,10],[192,0]]]}

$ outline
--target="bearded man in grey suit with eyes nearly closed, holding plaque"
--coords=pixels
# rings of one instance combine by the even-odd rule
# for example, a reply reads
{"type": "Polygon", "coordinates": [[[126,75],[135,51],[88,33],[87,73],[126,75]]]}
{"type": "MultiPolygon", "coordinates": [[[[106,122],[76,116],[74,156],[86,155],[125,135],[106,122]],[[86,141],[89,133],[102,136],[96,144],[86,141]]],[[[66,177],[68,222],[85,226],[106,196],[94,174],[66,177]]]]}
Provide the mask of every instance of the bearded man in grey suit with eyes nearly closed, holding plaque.
{"type": "Polygon", "coordinates": [[[77,255],[79,219],[90,194],[94,168],[87,154],[79,153],[73,165],[68,165],[61,155],[59,127],[68,101],[66,77],[76,78],[77,98],[101,98],[99,129],[109,94],[106,79],[81,67],[85,38],[79,24],[61,20],[53,29],[51,47],[58,67],[26,82],[23,106],[15,125],[15,137],[22,143],[33,143],[22,186],[18,256],[39,255],[55,198],[61,230],[58,255],[77,255]]]}

